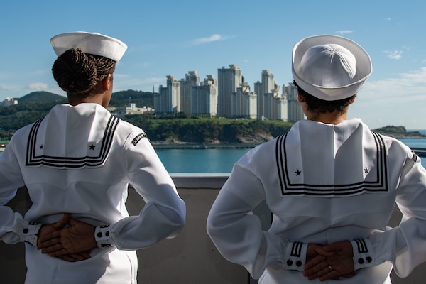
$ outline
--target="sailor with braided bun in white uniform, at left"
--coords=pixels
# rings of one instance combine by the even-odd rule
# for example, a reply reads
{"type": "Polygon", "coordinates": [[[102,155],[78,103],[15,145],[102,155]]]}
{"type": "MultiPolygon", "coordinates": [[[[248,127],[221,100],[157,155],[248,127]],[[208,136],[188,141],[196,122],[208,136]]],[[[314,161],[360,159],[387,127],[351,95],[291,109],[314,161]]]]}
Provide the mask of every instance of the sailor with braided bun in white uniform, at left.
{"type": "Polygon", "coordinates": [[[26,283],[136,283],[135,250],[175,237],[185,203],[146,133],[106,109],[126,45],[86,32],[50,41],[68,104],[16,131],[0,155],[0,194],[25,185],[33,202],[24,217],[1,202],[0,238],[26,242],[26,283]],[[146,201],[138,216],[126,210],[129,184],[146,201]]]}

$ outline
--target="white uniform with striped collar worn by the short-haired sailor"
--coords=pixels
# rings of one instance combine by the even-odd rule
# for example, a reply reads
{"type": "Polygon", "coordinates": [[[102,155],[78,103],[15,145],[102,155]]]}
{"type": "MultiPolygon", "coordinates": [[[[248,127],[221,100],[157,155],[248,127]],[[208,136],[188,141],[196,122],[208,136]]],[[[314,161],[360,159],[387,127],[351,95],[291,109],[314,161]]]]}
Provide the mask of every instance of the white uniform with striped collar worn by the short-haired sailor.
{"type": "Polygon", "coordinates": [[[426,170],[408,146],[360,119],[298,121],[244,155],[220,190],[207,232],[259,283],[391,283],[426,261],[426,170]],[[266,200],[268,231],[252,210],[266,200]],[[399,226],[387,226],[394,206],[399,226]],[[308,280],[307,244],[351,241],[356,275],[308,280]]]}

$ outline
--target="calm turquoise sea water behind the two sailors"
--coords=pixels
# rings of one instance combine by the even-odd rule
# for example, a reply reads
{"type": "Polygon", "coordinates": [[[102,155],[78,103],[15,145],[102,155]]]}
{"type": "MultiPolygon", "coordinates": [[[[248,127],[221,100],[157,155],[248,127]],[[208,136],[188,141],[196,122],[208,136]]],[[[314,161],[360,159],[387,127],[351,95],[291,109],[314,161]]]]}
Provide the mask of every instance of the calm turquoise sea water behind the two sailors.
{"type": "MultiPolygon", "coordinates": [[[[424,131],[426,135],[426,130],[424,131]]],[[[426,139],[401,139],[412,148],[426,148],[426,139]]],[[[161,149],[158,157],[169,173],[231,173],[232,166],[250,149],[161,149]]],[[[426,157],[421,157],[426,168],[426,157]]]]}

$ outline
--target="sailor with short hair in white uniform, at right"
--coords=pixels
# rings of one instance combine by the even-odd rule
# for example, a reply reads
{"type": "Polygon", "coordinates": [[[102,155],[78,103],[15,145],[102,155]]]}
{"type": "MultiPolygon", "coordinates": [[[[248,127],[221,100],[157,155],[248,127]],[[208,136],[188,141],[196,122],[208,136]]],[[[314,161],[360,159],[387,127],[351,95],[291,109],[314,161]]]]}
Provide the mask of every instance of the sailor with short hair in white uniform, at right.
{"type": "Polygon", "coordinates": [[[293,48],[307,120],[244,155],[220,190],[207,232],[259,283],[391,283],[426,261],[426,171],[400,141],[346,119],[371,74],[351,40],[317,35],[293,48]],[[263,200],[268,231],[252,210],[263,200]],[[388,227],[398,204],[403,219],[388,227]]]}

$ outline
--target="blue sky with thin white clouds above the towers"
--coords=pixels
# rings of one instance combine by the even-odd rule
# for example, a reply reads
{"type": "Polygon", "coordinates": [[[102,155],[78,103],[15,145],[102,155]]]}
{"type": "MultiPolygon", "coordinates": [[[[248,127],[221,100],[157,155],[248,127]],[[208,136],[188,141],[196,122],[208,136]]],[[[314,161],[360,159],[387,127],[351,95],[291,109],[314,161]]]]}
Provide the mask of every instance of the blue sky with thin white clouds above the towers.
{"type": "Polygon", "coordinates": [[[114,91],[158,92],[167,75],[200,80],[238,65],[253,90],[262,70],[282,86],[293,80],[291,51],[310,35],[343,35],[371,56],[373,74],[349,118],[371,128],[426,129],[426,2],[175,0],[2,1],[0,100],[33,91],[65,95],[50,68],[49,40],[70,31],[104,33],[129,49],[116,67],[114,91]]]}

